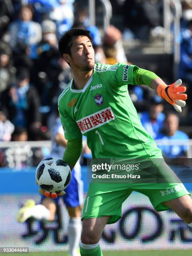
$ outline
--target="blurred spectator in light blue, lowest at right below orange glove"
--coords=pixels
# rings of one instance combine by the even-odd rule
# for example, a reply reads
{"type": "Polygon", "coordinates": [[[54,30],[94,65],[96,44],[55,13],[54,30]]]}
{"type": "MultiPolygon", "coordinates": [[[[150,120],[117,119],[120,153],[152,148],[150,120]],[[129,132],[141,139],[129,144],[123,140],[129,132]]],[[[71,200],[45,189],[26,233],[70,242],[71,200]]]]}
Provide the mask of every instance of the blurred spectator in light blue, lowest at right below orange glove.
{"type": "Polygon", "coordinates": [[[158,147],[162,150],[163,156],[168,158],[186,157],[189,137],[186,133],[179,131],[179,117],[176,113],[167,113],[164,120],[164,129],[156,137],[157,140],[162,140],[158,147]],[[178,145],[166,145],[166,141],[183,140],[183,143],[178,145]]]}

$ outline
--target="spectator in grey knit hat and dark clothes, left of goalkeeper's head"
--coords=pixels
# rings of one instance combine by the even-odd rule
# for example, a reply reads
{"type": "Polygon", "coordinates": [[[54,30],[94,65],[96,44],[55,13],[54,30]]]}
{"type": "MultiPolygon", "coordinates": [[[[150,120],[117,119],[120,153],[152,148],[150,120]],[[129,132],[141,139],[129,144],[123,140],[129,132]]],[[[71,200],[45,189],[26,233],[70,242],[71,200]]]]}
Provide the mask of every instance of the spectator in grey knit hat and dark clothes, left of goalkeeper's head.
{"type": "Polygon", "coordinates": [[[41,105],[51,105],[52,98],[59,86],[59,51],[57,49],[56,25],[52,20],[44,20],[41,24],[43,38],[36,52],[36,84],[41,96],[41,105]]]}

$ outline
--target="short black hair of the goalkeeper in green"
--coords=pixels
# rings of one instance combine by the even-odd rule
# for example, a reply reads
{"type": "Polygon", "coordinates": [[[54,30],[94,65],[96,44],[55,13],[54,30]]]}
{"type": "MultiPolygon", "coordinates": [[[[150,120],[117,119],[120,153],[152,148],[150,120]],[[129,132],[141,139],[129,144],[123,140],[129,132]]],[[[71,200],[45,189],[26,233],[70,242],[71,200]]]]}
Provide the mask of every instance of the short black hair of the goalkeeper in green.
{"type": "Polygon", "coordinates": [[[92,36],[90,35],[90,31],[81,29],[81,28],[72,28],[69,31],[65,32],[63,36],[59,39],[59,54],[61,57],[63,54],[71,55],[71,46],[73,44],[74,38],[77,36],[87,36],[91,43],[93,44],[92,36]]]}

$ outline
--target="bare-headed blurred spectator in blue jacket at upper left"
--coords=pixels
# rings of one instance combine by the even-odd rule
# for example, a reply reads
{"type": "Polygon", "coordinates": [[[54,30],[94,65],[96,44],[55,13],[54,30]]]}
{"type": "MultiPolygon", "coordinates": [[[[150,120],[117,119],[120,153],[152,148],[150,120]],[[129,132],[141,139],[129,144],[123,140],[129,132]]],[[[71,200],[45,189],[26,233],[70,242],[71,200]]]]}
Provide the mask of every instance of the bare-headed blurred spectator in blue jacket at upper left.
{"type": "Polygon", "coordinates": [[[30,51],[30,47],[41,41],[41,26],[32,20],[29,6],[22,6],[19,19],[10,24],[10,46],[14,52],[30,51]]]}

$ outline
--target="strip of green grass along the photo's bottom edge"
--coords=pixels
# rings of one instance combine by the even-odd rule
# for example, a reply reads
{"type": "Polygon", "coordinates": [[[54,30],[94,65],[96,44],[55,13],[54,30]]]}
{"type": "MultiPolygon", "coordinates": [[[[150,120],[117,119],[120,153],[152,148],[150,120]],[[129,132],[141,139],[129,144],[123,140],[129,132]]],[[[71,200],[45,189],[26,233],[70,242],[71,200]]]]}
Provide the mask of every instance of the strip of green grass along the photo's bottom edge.
{"type": "MultiPolygon", "coordinates": [[[[66,252],[0,253],[0,256],[68,256],[66,252]]],[[[104,251],[103,256],[192,256],[192,250],[183,251],[104,251]]]]}

